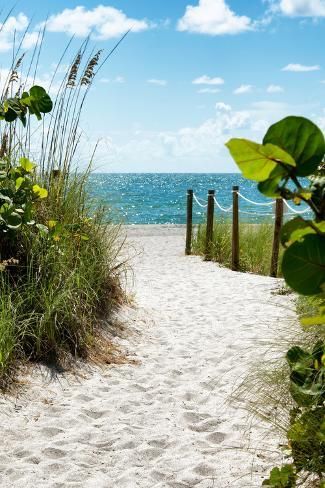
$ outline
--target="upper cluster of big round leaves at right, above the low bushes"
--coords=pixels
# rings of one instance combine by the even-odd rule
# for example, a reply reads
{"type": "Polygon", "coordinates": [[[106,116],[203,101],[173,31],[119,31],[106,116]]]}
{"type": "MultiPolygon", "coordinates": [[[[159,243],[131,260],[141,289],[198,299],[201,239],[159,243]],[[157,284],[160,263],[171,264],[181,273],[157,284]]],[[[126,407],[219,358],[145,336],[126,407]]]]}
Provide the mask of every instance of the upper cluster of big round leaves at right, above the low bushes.
{"type": "Polygon", "coordinates": [[[322,132],[303,117],[286,117],[270,127],[263,144],[232,139],[227,146],[244,176],[258,182],[261,192],[281,196],[297,205],[304,201],[313,210],[313,220],[297,218],[284,227],[282,242],[286,249],[282,272],[298,293],[323,293],[325,177],[313,177],[325,154],[322,132]],[[302,185],[300,176],[310,177],[308,187],[302,185]],[[289,181],[294,189],[288,185],[289,181]]]}

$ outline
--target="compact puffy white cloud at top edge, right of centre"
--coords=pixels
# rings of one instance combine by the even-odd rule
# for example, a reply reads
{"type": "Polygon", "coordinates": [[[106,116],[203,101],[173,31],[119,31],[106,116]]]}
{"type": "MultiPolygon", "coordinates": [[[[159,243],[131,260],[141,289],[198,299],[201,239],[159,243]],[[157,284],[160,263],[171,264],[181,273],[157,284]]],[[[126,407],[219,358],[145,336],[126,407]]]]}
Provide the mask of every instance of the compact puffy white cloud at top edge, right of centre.
{"type": "Polygon", "coordinates": [[[199,0],[197,6],[188,5],[184,16],[178,21],[179,31],[188,31],[212,36],[239,34],[253,29],[247,16],[236,15],[225,0],[199,0]]]}

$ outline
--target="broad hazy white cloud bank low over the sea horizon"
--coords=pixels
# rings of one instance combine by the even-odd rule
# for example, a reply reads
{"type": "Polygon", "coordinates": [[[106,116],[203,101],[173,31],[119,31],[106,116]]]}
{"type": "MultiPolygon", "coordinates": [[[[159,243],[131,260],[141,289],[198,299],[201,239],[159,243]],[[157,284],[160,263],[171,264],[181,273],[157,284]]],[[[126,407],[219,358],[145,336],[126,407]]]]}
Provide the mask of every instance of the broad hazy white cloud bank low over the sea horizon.
{"type": "MultiPolygon", "coordinates": [[[[135,130],[125,134],[125,143],[117,143],[116,136],[113,140],[110,138],[110,150],[108,153],[107,149],[106,152],[103,150],[100,159],[110,169],[116,167],[119,171],[121,168],[124,171],[126,164],[127,170],[133,168],[134,171],[139,161],[143,171],[200,171],[202,164],[206,165],[207,170],[213,171],[215,168],[218,171],[216,157],[220,153],[227,154],[225,142],[235,135],[244,136],[249,127],[249,112],[235,111],[219,102],[215,116],[198,126],[182,127],[175,131],[135,130]]],[[[224,157],[219,160],[224,161],[224,157]]],[[[229,171],[233,170],[234,165],[230,162],[229,171]]]]}

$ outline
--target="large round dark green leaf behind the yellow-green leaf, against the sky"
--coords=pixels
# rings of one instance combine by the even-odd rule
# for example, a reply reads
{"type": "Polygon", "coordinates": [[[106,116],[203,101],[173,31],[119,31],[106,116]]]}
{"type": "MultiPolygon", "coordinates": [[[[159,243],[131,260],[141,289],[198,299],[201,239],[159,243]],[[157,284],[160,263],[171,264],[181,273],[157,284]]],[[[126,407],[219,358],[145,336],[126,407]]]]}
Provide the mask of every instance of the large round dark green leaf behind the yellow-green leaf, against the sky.
{"type": "Polygon", "coordinates": [[[325,154],[322,131],[304,117],[290,116],[272,125],[263,144],[275,144],[289,153],[296,161],[298,176],[314,173],[325,154]]]}

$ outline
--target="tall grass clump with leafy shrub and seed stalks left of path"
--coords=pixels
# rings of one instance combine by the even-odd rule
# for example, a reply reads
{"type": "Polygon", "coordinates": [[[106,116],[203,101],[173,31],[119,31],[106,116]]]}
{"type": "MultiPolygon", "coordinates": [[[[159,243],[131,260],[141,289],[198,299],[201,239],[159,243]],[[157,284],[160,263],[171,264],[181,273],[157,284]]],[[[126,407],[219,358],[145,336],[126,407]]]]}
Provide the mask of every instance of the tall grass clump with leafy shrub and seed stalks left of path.
{"type": "MultiPolygon", "coordinates": [[[[85,356],[99,319],[123,296],[119,229],[87,197],[90,166],[73,169],[80,115],[101,55],[83,64],[86,47],[54,102],[39,86],[14,90],[23,57],[15,53],[0,100],[0,386],[18,359],[85,356]],[[30,156],[33,134],[37,162],[30,156]]],[[[41,45],[35,49],[38,60],[41,45]]]]}

